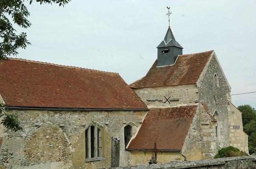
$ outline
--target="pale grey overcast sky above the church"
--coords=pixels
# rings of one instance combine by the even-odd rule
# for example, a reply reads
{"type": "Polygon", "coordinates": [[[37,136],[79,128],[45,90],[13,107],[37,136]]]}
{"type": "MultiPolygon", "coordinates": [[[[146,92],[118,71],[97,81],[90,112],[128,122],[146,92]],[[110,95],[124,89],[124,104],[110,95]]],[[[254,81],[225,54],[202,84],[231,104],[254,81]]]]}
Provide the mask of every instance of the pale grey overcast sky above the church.
{"type": "MultiPolygon", "coordinates": [[[[255,0],[73,0],[64,8],[27,2],[32,26],[23,31],[32,45],[17,58],[118,72],[130,84],[157,59],[166,6],[183,54],[214,49],[231,94],[256,91],[255,0]]],[[[256,93],[232,102],[256,108],[256,93]]]]}

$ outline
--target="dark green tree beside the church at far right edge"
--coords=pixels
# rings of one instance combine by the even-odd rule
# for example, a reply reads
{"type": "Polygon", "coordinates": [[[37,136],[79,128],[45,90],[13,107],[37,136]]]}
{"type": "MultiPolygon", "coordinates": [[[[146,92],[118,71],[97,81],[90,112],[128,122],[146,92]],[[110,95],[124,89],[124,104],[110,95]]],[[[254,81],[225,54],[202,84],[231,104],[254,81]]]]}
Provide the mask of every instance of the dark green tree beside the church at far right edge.
{"type": "Polygon", "coordinates": [[[243,129],[248,134],[249,153],[256,152],[256,110],[250,105],[240,105],[238,109],[242,112],[243,129]]]}

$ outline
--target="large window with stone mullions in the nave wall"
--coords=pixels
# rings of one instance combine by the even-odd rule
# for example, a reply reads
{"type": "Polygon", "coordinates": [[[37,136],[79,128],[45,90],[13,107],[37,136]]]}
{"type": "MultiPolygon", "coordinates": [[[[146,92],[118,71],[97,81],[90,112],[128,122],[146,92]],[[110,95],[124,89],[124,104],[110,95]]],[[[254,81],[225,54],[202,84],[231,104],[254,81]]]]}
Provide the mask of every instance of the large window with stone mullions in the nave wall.
{"type": "Polygon", "coordinates": [[[91,124],[85,130],[85,158],[102,156],[102,127],[91,124]]]}

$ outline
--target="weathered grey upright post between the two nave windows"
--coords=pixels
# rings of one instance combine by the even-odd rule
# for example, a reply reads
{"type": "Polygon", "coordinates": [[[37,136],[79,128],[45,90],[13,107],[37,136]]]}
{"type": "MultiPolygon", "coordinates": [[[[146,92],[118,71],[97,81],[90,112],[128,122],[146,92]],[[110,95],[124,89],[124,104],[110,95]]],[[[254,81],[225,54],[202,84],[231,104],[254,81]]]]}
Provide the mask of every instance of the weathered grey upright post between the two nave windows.
{"type": "Polygon", "coordinates": [[[120,158],[120,138],[112,137],[111,167],[119,167],[119,158],[120,158]]]}

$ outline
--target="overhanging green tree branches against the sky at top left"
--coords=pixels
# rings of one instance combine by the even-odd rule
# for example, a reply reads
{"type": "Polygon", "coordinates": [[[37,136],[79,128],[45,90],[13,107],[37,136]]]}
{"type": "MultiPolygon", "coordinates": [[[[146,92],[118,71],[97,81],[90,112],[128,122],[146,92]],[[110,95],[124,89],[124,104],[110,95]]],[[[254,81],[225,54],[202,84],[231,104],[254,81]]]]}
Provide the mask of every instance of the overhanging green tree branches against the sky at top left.
{"type": "MultiPolygon", "coordinates": [[[[24,1],[28,1],[29,4],[33,2],[33,0],[0,0],[0,60],[7,59],[8,56],[17,55],[17,49],[25,49],[27,45],[30,45],[27,34],[25,32],[17,34],[12,25],[14,23],[24,29],[31,26],[28,20],[30,14],[24,5],[24,1]]],[[[56,3],[59,6],[64,6],[70,0],[34,1],[40,3],[40,5],[56,3]]]]}

